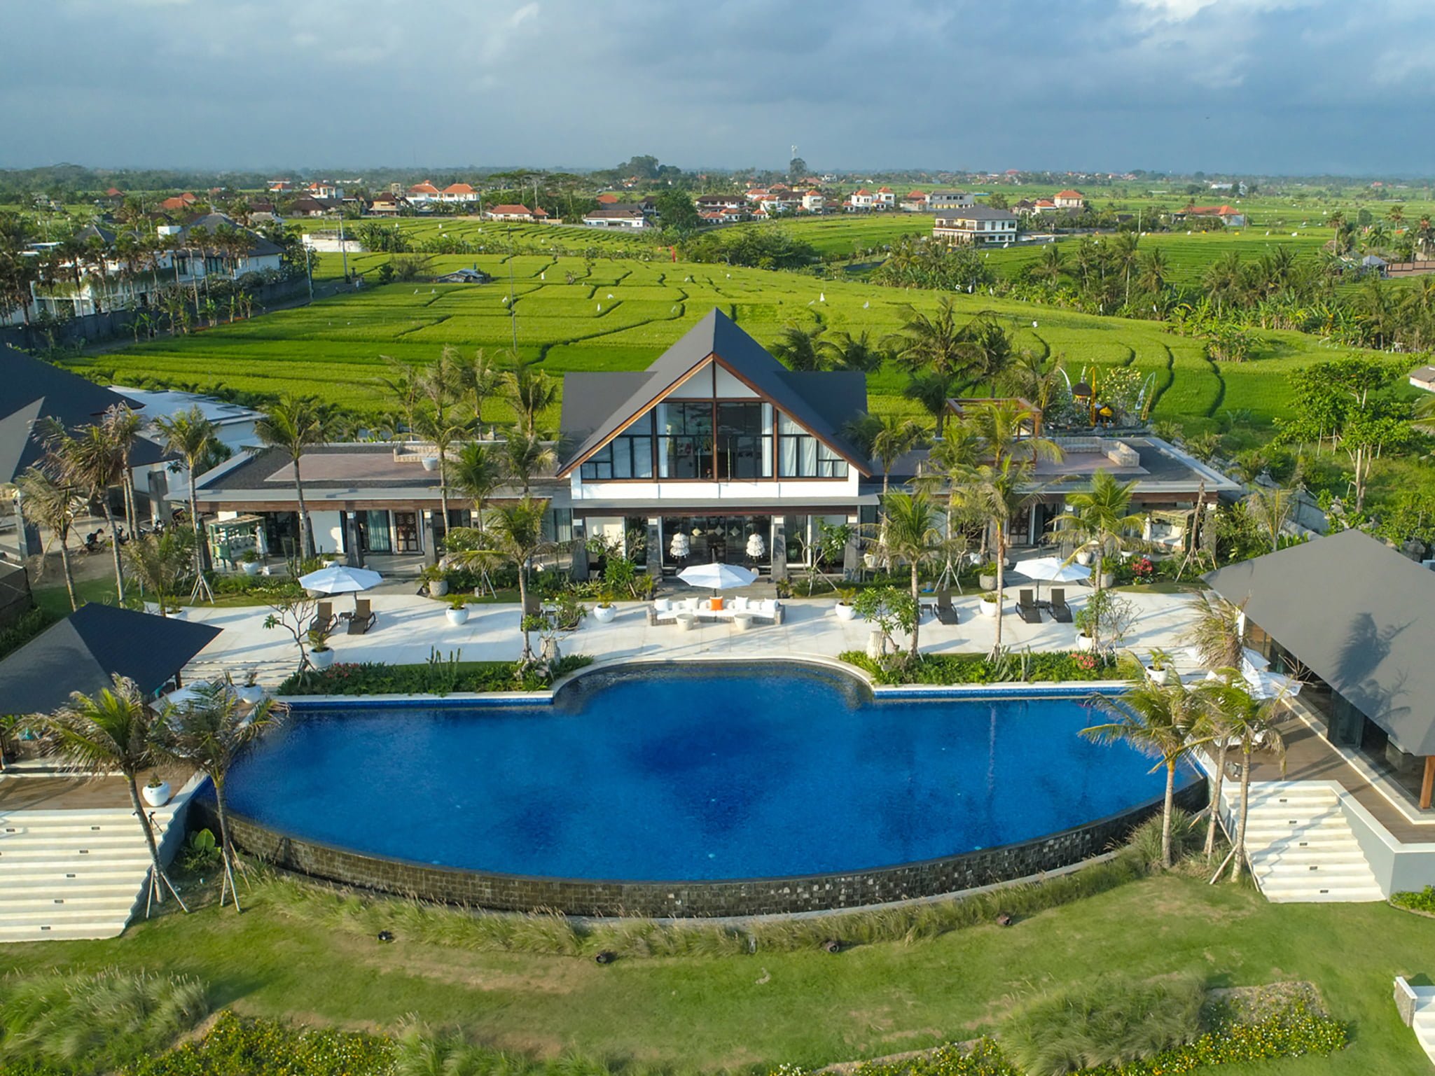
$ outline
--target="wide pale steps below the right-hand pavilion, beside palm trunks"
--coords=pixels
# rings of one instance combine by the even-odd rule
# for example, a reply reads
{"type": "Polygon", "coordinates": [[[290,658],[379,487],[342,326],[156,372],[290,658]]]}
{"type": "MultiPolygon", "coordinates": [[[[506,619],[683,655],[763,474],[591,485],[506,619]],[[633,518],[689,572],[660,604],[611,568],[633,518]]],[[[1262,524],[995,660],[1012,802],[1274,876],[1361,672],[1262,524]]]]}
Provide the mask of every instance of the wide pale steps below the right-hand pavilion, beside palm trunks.
{"type": "MultiPolygon", "coordinates": [[[[1269,901],[1385,900],[1333,789],[1270,780],[1254,782],[1250,791],[1246,849],[1269,901]]],[[[1234,818],[1240,786],[1227,780],[1221,792],[1228,818],[1234,818]]]]}

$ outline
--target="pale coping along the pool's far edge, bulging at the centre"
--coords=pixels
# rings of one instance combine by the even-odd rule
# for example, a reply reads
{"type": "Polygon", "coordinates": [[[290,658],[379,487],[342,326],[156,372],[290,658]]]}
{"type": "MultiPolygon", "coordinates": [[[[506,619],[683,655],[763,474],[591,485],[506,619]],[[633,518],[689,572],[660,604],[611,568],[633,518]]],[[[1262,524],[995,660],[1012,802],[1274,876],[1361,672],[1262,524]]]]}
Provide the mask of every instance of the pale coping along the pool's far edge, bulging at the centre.
{"type": "Polygon", "coordinates": [[[448,694],[283,694],[276,696],[276,702],[298,709],[326,706],[356,706],[356,707],[385,707],[395,704],[422,704],[432,709],[446,709],[458,706],[514,706],[514,704],[551,704],[568,686],[594,673],[607,673],[617,669],[634,667],[667,667],[684,664],[753,664],[756,661],[782,661],[785,664],[815,666],[831,671],[844,673],[861,686],[867,687],[874,699],[1004,699],[1004,697],[1040,697],[1056,699],[1073,694],[1111,694],[1131,687],[1129,680],[1043,680],[989,684],[878,684],[868,676],[867,670],[848,664],[825,654],[772,654],[753,657],[752,654],[689,654],[683,657],[660,656],[631,656],[600,659],[583,669],[575,669],[567,676],[555,680],[541,692],[451,692],[448,694]]]}

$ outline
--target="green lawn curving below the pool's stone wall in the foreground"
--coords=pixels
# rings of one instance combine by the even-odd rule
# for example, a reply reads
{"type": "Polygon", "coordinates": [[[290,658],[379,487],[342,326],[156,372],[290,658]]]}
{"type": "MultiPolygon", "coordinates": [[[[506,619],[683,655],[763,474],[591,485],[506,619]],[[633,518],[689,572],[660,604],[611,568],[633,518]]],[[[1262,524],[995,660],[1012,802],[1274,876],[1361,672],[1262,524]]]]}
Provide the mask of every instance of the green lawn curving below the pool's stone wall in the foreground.
{"type": "Polygon", "coordinates": [[[841,955],[574,957],[393,945],[286,918],[265,892],[243,915],[205,908],[115,941],[9,945],[0,968],[164,968],[263,1016],[392,1027],[416,1013],[511,1050],[580,1050],[676,1069],[822,1065],[964,1039],[1030,990],[1105,971],[1177,971],[1208,986],[1310,980],[1349,1021],[1330,1059],[1230,1066],[1231,1076],[1401,1076],[1429,1062],[1391,1003],[1395,974],[1428,974],[1435,921],[1376,905],[1271,905],[1180,877],[1131,882],[1020,921],[841,955]]]}

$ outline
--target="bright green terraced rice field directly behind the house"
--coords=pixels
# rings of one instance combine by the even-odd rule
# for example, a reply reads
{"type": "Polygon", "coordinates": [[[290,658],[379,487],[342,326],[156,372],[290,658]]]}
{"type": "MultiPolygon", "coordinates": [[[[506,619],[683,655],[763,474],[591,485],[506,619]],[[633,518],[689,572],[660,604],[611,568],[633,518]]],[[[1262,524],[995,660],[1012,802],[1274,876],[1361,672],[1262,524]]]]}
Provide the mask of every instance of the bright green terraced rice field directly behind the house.
{"type": "MultiPolygon", "coordinates": [[[[376,267],[387,255],[357,255],[376,267]]],[[[326,267],[337,255],[323,255],[326,267]]],[[[824,281],[789,273],[670,261],[584,260],[519,254],[439,255],[439,270],[476,265],[489,284],[387,284],[340,294],[192,336],[164,337],[67,360],[122,382],[156,377],[175,387],[313,393],[363,412],[389,409],[379,379],[385,356],[428,362],[452,344],[462,351],[519,354],[557,377],[568,370],[643,369],[709,310],[732,316],[761,343],[788,324],[821,318],[829,330],[894,331],[911,308],[934,310],[931,291],[824,281]],[[573,283],[568,283],[570,274],[573,283]]],[[[370,280],[373,277],[370,275],[370,280]]],[[[1017,347],[1083,369],[1129,366],[1155,393],[1154,417],[1203,425],[1223,410],[1269,425],[1287,400],[1286,374],[1337,350],[1296,333],[1266,333],[1263,357],[1217,366],[1201,346],[1161,324],[1091,317],[1013,300],[954,296],[969,316],[987,313],[1017,347]]],[[[918,413],[903,397],[905,374],[870,377],[871,407],[918,413]]],[[[508,417],[499,402],[485,420],[508,417]]]]}

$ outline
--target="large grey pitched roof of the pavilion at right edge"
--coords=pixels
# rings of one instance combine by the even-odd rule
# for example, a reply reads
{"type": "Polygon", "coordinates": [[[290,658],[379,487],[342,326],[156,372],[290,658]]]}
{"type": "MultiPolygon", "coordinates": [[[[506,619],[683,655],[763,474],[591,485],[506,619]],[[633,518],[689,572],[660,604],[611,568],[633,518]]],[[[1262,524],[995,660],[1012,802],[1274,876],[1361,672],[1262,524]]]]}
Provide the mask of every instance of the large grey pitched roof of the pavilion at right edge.
{"type": "Polygon", "coordinates": [[[1435,755],[1435,572],[1342,531],[1205,581],[1403,750],[1435,755]]]}

